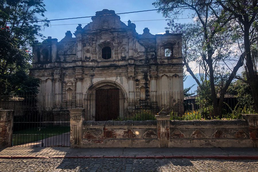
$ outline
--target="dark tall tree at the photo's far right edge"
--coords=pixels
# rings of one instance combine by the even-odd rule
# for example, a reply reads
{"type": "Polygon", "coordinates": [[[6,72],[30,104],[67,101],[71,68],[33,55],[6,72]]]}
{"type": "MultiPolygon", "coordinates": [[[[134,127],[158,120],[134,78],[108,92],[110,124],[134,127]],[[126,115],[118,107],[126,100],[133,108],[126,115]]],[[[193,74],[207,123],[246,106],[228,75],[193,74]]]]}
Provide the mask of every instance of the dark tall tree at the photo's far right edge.
{"type": "Polygon", "coordinates": [[[243,82],[250,85],[256,112],[258,112],[258,54],[257,54],[257,35],[258,35],[258,4],[257,0],[235,0],[222,2],[217,0],[225,11],[225,15],[232,15],[232,19],[239,25],[242,39],[239,39],[239,48],[246,52],[245,72],[246,79],[236,76],[243,82]]]}

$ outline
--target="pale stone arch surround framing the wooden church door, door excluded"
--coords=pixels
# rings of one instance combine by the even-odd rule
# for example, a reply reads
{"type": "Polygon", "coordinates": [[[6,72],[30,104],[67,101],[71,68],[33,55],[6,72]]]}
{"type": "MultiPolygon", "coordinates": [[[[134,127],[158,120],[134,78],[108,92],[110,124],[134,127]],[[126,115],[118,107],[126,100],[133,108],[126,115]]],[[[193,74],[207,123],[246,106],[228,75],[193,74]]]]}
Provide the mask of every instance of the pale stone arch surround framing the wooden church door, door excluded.
{"type": "Polygon", "coordinates": [[[87,118],[96,120],[96,90],[97,89],[119,89],[119,118],[124,118],[128,102],[126,90],[122,85],[115,81],[103,80],[99,81],[89,87],[85,93],[84,100],[87,105],[87,118]]]}

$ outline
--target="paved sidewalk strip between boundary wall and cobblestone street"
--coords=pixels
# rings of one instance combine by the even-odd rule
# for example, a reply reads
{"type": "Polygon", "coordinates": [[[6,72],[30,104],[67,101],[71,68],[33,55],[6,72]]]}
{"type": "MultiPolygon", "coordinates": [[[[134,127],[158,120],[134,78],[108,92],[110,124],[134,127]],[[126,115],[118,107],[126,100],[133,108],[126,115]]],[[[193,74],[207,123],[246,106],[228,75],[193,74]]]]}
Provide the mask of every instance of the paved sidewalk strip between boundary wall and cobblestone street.
{"type": "Polygon", "coordinates": [[[35,158],[258,159],[258,148],[9,147],[0,149],[0,159],[35,158]]]}

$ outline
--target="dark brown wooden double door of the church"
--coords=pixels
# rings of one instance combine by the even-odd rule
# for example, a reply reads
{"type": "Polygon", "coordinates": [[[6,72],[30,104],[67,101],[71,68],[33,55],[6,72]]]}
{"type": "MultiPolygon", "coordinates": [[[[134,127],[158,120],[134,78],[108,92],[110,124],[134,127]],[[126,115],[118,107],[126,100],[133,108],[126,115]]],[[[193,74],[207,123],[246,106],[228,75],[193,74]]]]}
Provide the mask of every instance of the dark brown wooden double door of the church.
{"type": "Polygon", "coordinates": [[[119,89],[96,89],[96,121],[119,117],[119,89]]]}

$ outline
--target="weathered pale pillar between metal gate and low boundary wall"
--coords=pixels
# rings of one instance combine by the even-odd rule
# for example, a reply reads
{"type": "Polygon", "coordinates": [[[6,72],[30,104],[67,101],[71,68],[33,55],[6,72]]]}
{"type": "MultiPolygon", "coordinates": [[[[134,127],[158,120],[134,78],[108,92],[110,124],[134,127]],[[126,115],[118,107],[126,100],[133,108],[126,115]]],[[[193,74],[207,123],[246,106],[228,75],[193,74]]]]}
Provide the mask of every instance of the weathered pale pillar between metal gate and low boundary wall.
{"type": "Polygon", "coordinates": [[[84,120],[85,109],[69,109],[70,111],[70,142],[71,147],[81,145],[82,122],[84,120]]]}

